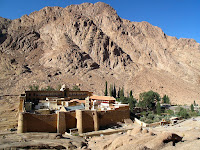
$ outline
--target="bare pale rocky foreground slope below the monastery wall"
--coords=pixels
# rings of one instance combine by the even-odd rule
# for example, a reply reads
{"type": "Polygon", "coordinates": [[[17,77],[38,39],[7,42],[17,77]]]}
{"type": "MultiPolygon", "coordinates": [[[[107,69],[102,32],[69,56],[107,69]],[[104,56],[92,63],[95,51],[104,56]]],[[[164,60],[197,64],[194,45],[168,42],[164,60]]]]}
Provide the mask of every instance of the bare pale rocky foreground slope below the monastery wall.
{"type": "MultiPolygon", "coordinates": [[[[133,128],[101,136],[69,136],[58,133],[0,132],[0,149],[91,149],[91,150],[199,150],[199,117],[168,127],[141,128],[137,124],[126,125],[133,128]]],[[[109,130],[109,129],[108,129],[109,130]]]]}

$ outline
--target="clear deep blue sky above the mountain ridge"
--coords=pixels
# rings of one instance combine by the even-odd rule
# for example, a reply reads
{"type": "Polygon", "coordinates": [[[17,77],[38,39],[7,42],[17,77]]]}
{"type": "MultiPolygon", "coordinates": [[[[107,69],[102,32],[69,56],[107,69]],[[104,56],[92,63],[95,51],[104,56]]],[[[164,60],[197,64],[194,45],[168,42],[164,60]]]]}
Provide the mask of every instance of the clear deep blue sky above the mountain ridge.
{"type": "MultiPolygon", "coordinates": [[[[17,19],[45,6],[66,7],[98,0],[0,0],[0,16],[17,19]]],[[[134,22],[147,21],[169,36],[192,38],[200,43],[200,0],[101,0],[117,14],[134,22]]]]}

